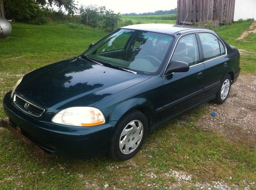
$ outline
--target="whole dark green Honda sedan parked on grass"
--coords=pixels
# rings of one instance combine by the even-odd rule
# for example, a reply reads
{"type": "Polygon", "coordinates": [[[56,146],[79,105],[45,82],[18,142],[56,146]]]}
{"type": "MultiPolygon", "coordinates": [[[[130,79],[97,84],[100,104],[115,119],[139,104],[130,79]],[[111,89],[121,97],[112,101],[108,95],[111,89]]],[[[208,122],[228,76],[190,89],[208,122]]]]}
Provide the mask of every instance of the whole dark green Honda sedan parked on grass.
{"type": "Polygon", "coordinates": [[[8,128],[48,154],[126,160],[148,132],[204,102],[225,102],[239,61],[210,30],[125,26],[20,78],[4,98],[8,128]]]}

